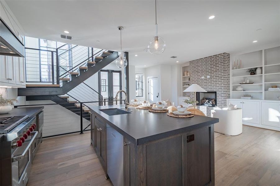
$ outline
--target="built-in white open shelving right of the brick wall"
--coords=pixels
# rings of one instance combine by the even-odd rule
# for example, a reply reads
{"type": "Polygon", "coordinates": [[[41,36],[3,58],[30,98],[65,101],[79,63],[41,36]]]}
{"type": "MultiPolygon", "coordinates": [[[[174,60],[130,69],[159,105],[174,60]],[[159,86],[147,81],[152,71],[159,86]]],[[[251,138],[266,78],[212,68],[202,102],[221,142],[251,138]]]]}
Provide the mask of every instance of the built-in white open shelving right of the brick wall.
{"type": "Polygon", "coordinates": [[[271,86],[280,87],[280,47],[273,47],[260,51],[250,52],[231,56],[231,78],[230,89],[231,98],[240,99],[242,92],[244,95],[251,95],[253,99],[260,100],[278,100],[280,91],[268,91],[271,86]],[[234,61],[242,61],[240,69],[234,69],[234,61]],[[246,72],[251,68],[260,68],[261,74],[250,75],[246,72]],[[239,84],[246,82],[253,84],[239,84]],[[236,91],[236,87],[241,86],[243,91],[236,91]]]}

